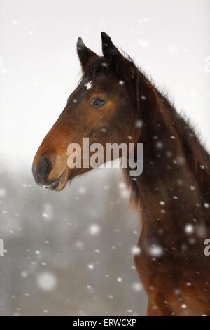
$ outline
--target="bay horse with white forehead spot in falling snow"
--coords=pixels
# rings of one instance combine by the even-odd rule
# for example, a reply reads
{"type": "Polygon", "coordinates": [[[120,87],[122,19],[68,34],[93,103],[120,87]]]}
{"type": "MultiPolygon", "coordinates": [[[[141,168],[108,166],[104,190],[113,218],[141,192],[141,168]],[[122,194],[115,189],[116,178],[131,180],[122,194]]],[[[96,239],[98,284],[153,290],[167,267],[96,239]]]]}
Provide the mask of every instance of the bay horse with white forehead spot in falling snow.
{"type": "Polygon", "coordinates": [[[134,256],[148,315],[210,315],[209,154],[188,121],[102,32],[103,56],[78,38],[83,76],[34,157],[38,185],[64,189],[90,171],[67,166],[69,143],[144,144],[144,171],[125,180],[141,220],[134,256]],[[88,85],[89,84],[89,85],[88,85]]]}

